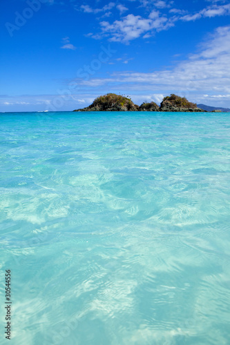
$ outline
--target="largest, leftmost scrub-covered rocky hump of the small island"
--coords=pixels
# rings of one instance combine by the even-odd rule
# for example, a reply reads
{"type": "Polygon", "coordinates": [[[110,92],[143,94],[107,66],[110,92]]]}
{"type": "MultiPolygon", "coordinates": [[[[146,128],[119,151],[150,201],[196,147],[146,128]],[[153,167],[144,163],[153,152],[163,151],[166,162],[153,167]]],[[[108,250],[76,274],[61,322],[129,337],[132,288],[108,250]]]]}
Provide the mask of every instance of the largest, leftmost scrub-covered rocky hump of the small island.
{"type": "Polygon", "coordinates": [[[115,93],[97,97],[90,106],[74,111],[138,111],[139,106],[130,98],[115,93]]]}

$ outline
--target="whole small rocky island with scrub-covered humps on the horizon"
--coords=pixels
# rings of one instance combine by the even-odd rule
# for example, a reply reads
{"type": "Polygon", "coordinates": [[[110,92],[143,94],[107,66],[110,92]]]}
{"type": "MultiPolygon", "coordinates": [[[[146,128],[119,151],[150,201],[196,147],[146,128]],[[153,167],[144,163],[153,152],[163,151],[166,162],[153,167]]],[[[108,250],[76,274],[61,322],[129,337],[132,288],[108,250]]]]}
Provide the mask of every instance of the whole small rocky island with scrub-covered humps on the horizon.
{"type": "Polygon", "coordinates": [[[174,94],[164,97],[160,106],[157,103],[142,103],[140,106],[133,103],[130,97],[107,93],[107,95],[97,97],[90,106],[82,109],[73,110],[82,111],[162,111],[162,112],[205,112],[198,108],[195,103],[189,102],[185,97],[174,94]]]}

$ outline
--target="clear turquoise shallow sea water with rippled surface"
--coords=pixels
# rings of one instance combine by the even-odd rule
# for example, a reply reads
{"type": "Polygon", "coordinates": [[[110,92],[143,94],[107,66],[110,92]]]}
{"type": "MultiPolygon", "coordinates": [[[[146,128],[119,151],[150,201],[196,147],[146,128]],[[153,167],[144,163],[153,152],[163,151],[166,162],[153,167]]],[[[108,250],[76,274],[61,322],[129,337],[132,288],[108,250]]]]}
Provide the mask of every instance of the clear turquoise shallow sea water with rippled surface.
{"type": "Polygon", "coordinates": [[[230,344],[229,114],[3,114],[0,130],[10,344],[230,344]]]}

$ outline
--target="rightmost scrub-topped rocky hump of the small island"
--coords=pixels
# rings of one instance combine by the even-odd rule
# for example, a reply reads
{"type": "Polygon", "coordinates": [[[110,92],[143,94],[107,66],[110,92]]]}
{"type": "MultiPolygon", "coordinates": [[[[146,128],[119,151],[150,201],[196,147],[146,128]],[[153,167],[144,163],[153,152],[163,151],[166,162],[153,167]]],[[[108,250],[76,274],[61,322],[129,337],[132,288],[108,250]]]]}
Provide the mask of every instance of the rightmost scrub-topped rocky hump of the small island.
{"type": "Polygon", "coordinates": [[[204,110],[198,108],[195,103],[189,102],[185,97],[171,94],[171,96],[164,97],[160,103],[160,111],[203,112],[204,110]]]}

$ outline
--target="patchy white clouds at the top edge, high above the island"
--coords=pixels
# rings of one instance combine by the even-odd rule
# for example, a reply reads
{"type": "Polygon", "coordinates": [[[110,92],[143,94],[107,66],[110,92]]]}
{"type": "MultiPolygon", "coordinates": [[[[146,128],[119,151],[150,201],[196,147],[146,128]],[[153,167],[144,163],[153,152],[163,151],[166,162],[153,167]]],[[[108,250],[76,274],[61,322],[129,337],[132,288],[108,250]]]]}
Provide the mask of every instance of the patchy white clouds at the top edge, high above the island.
{"type": "MultiPolygon", "coordinates": [[[[131,0],[130,0],[131,1],[131,0]]],[[[173,1],[164,0],[139,0],[142,6],[145,7],[145,11],[148,11],[148,17],[142,17],[141,15],[135,15],[133,13],[117,19],[113,22],[101,21],[101,32],[95,32],[90,34],[90,37],[94,39],[102,39],[108,37],[110,41],[119,41],[128,43],[133,39],[142,37],[148,39],[152,37],[155,32],[161,30],[168,30],[179,20],[182,21],[195,21],[205,17],[211,18],[216,16],[223,16],[230,14],[230,3],[212,1],[210,6],[204,8],[196,13],[189,13],[187,10],[181,10],[177,8],[171,8],[173,1]],[[155,10],[153,8],[155,7],[155,10]],[[168,14],[160,12],[168,9],[168,14]],[[171,8],[171,9],[170,9],[171,8]]],[[[98,12],[105,12],[111,8],[114,8],[115,3],[111,2],[103,8],[91,8],[88,5],[80,6],[80,9],[87,13],[97,14],[98,12]]],[[[116,6],[120,14],[128,10],[124,5],[119,4],[116,6]]],[[[112,13],[106,12],[102,17],[110,17],[112,13]]],[[[113,13],[114,14],[114,13],[113,13]]]]}

